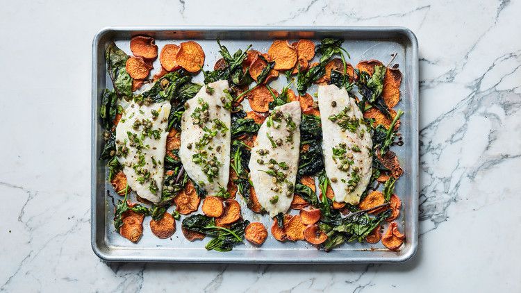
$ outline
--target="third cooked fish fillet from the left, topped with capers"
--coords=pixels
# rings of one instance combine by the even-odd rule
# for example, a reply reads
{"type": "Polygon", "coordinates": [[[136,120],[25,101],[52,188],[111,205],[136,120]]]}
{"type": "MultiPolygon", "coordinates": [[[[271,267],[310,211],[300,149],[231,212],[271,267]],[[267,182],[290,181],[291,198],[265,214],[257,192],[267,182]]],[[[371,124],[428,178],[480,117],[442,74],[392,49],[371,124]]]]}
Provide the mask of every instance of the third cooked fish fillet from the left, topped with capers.
{"type": "Polygon", "coordinates": [[[298,101],[275,107],[251,149],[251,183],[258,202],[270,217],[286,212],[293,200],[299,167],[300,120],[298,101]]]}

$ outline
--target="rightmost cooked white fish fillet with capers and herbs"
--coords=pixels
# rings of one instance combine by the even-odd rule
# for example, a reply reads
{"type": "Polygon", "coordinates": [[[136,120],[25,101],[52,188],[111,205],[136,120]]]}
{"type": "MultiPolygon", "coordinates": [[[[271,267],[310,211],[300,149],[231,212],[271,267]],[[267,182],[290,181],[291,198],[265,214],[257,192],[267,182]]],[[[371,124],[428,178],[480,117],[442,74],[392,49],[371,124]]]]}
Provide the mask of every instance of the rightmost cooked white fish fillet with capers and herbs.
{"type": "Polygon", "coordinates": [[[318,103],[324,165],[335,200],[358,204],[371,178],[371,134],[345,88],[319,86],[318,103]]]}

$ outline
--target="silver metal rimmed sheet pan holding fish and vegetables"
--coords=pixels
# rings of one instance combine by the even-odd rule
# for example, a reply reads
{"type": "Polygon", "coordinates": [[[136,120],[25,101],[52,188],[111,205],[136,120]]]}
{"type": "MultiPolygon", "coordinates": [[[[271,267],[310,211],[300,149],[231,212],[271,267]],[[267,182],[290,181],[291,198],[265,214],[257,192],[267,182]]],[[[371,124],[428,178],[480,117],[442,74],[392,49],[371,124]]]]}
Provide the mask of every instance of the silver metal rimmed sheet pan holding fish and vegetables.
{"type": "MultiPolygon", "coordinates": [[[[158,61],[154,64],[159,68],[158,61]]],[[[202,74],[200,74],[202,75],[202,74]]],[[[201,81],[201,76],[195,81],[201,81]],[[198,79],[199,78],[199,79],[198,79]]],[[[283,79],[284,78],[279,78],[283,79]]],[[[280,89],[282,81],[273,87],[280,89]]],[[[94,253],[108,261],[140,262],[404,262],[417,249],[418,219],[418,54],[415,35],[407,28],[400,27],[117,27],[104,28],[94,37],[92,44],[92,249],[94,253]],[[403,79],[402,101],[397,108],[404,110],[400,131],[404,137],[404,147],[395,148],[404,175],[396,186],[402,199],[400,226],[405,232],[406,242],[399,251],[388,251],[381,244],[347,243],[326,253],[318,251],[307,242],[280,243],[269,235],[263,246],[248,242],[235,246],[233,251],[220,253],[206,251],[204,242],[188,242],[181,233],[181,222],[177,222],[176,233],[167,240],[160,240],[151,234],[149,219],[144,221],[144,235],[138,244],[125,240],[114,231],[113,206],[106,196],[113,188],[106,183],[105,163],[98,160],[101,151],[101,126],[99,124],[99,98],[101,91],[109,87],[106,73],[104,50],[108,42],[114,40],[118,47],[129,52],[129,40],[133,35],[147,34],[156,37],[158,47],[167,42],[196,40],[205,53],[205,69],[213,66],[219,58],[217,38],[231,52],[253,44],[258,51],[267,51],[273,39],[297,40],[308,38],[319,42],[323,37],[338,37],[345,40],[342,47],[351,55],[353,65],[360,60],[390,60],[391,53],[398,53],[394,62],[399,64],[403,79]]],[[[239,196],[240,197],[240,196],[239,196]]],[[[241,200],[239,199],[241,202],[241,200]]],[[[243,204],[244,202],[241,202],[243,204]]],[[[245,219],[262,221],[268,228],[270,219],[243,208],[245,219]]]]}

